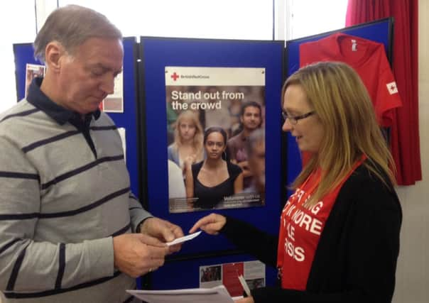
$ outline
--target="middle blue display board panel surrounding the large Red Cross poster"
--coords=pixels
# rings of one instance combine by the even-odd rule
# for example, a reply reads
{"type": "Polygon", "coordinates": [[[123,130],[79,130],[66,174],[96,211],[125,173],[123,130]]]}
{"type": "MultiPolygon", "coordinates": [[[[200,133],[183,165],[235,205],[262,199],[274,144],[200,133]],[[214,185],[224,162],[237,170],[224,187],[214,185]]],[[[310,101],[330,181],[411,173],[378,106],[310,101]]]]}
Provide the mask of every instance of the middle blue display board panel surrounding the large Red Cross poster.
{"type": "MultiPolygon", "coordinates": [[[[283,42],[141,38],[143,78],[142,116],[145,119],[148,209],[168,219],[185,233],[202,216],[212,211],[171,214],[168,209],[167,116],[165,67],[264,67],[266,69],[266,206],[222,209],[215,212],[234,216],[268,233],[278,233],[281,207],[281,109],[283,42]],[[146,114],[146,115],[145,115],[146,114]]],[[[212,253],[234,249],[223,237],[205,234],[183,246],[179,255],[212,253]]]]}

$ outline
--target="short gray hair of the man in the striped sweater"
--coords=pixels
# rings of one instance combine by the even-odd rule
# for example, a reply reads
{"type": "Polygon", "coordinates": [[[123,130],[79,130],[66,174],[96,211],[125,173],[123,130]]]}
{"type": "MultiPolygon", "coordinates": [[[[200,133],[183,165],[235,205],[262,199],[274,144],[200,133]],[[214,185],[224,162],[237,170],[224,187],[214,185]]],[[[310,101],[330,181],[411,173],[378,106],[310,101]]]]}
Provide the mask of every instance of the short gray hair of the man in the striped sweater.
{"type": "Polygon", "coordinates": [[[122,33],[102,13],[78,5],[56,9],[46,19],[34,40],[34,56],[45,62],[48,43],[58,41],[67,53],[85,43],[89,38],[122,39],[122,33]]]}

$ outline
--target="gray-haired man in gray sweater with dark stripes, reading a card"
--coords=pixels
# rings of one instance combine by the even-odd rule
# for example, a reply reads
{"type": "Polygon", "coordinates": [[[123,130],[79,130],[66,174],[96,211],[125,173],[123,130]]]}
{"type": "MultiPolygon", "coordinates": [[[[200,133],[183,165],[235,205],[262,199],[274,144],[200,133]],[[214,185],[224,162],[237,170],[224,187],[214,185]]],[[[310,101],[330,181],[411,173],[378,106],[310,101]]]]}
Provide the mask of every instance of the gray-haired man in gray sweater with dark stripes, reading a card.
{"type": "Polygon", "coordinates": [[[0,290],[6,302],[132,302],[179,226],[129,189],[121,138],[100,102],[124,52],[105,16],[65,6],[34,42],[47,67],[0,116],[0,290]]]}

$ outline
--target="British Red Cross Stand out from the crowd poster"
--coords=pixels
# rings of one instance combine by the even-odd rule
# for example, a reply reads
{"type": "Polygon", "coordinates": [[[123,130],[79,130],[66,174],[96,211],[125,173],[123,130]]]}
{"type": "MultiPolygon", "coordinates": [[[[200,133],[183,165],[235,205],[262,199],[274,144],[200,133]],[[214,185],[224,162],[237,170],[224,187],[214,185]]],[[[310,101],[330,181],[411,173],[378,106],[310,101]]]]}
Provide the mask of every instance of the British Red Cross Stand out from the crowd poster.
{"type": "Polygon", "coordinates": [[[265,69],[165,67],[170,213],[265,205],[265,69]]]}

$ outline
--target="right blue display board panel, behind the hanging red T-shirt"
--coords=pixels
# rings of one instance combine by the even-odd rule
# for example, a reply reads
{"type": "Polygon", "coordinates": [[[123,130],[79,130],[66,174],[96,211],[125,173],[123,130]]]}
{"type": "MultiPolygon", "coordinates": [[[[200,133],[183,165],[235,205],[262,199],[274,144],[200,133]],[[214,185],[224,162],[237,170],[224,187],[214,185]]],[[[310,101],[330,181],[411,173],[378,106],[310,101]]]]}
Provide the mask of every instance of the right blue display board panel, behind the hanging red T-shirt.
{"type": "MultiPolygon", "coordinates": [[[[379,21],[362,23],[357,26],[342,28],[337,31],[330,31],[327,33],[321,33],[319,35],[312,35],[310,37],[286,41],[286,75],[292,75],[293,72],[298,70],[300,67],[300,44],[320,40],[321,38],[325,38],[327,35],[332,35],[333,33],[339,32],[373,40],[378,43],[383,43],[387,58],[389,59],[389,62],[391,62],[391,36],[393,35],[393,18],[385,18],[379,21]]],[[[295,177],[299,174],[302,168],[298,146],[296,144],[295,138],[290,136],[290,133],[288,133],[287,140],[287,155],[287,180],[288,183],[290,183],[295,180],[295,177]]]]}

